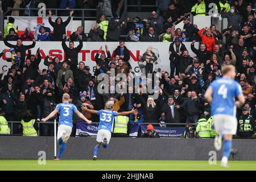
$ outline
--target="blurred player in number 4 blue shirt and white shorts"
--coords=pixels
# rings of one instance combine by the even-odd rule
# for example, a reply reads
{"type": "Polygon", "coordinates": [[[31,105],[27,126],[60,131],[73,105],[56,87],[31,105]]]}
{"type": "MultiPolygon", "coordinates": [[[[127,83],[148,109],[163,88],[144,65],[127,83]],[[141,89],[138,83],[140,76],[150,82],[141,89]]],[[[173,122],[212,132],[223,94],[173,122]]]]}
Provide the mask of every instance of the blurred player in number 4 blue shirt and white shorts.
{"type": "Polygon", "coordinates": [[[205,92],[205,99],[212,103],[213,122],[216,129],[214,147],[221,149],[224,139],[223,156],[221,166],[228,167],[228,158],[232,150],[232,135],[237,132],[237,107],[245,103],[242,88],[237,81],[236,68],[233,65],[225,65],[222,68],[223,77],[213,81],[205,92]],[[238,99],[236,101],[235,99],[238,99]]]}

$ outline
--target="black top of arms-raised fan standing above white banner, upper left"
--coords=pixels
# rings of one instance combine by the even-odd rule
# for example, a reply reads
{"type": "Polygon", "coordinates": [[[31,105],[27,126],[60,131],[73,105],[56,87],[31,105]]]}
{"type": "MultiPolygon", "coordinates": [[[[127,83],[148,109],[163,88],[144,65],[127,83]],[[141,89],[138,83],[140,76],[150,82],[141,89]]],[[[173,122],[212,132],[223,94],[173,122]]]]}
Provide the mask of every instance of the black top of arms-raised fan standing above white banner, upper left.
{"type": "Polygon", "coordinates": [[[51,24],[51,26],[53,27],[52,41],[61,41],[63,38],[63,34],[66,34],[66,27],[67,27],[68,23],[70,22],[71,17],[69,16],[65,22],[63,22],[61,19],[60,24],[57,24],[56,20],[55,20],[55,22],[52,22],[52,18],[49,17],[49,24],[51,24]]]}

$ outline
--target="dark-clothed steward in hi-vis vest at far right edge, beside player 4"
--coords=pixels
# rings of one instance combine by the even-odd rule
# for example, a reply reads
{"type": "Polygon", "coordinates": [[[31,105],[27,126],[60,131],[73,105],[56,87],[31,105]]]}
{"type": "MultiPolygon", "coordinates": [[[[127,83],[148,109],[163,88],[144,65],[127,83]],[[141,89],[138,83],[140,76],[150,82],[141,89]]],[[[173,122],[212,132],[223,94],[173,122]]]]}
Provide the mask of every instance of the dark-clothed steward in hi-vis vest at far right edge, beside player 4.
{"type": "Polygon", "coordinates": [[[249,109],[247,107],[243,107],[242,115],[238,121],[237,130],[238,137],[255,138],[255,121],[249,114],[249,109]]]}

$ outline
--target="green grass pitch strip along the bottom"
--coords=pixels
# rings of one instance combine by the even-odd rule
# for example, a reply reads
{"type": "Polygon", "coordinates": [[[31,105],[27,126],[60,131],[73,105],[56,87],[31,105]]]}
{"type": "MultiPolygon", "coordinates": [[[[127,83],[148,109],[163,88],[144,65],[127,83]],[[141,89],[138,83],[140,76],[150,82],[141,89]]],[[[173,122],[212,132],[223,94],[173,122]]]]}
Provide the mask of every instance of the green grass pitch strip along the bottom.
{"type": "Polygon", "coordinates": [[[230,161],[229,168],[222,168],[220,161],[210,165],[208,161],[192,160],[47,160],[46,165],[39,165],[38,160],[0,160],[0,170],[256,170],[256,161],[230,161]]]}

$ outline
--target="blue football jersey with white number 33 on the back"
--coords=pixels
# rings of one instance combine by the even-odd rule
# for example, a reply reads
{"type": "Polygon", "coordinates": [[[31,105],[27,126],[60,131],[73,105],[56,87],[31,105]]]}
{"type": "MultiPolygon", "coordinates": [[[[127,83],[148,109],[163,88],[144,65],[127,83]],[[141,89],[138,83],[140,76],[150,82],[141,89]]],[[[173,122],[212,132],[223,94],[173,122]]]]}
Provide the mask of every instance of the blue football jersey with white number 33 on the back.
{"type": "Polygon", "coordinates": [[[114,117],[117,116],[117,112],[102,109],[99,110],[97,114],[100,115],[100,124],[98,125],[98,130],[104,129],[112,132],[114,117]]]}

